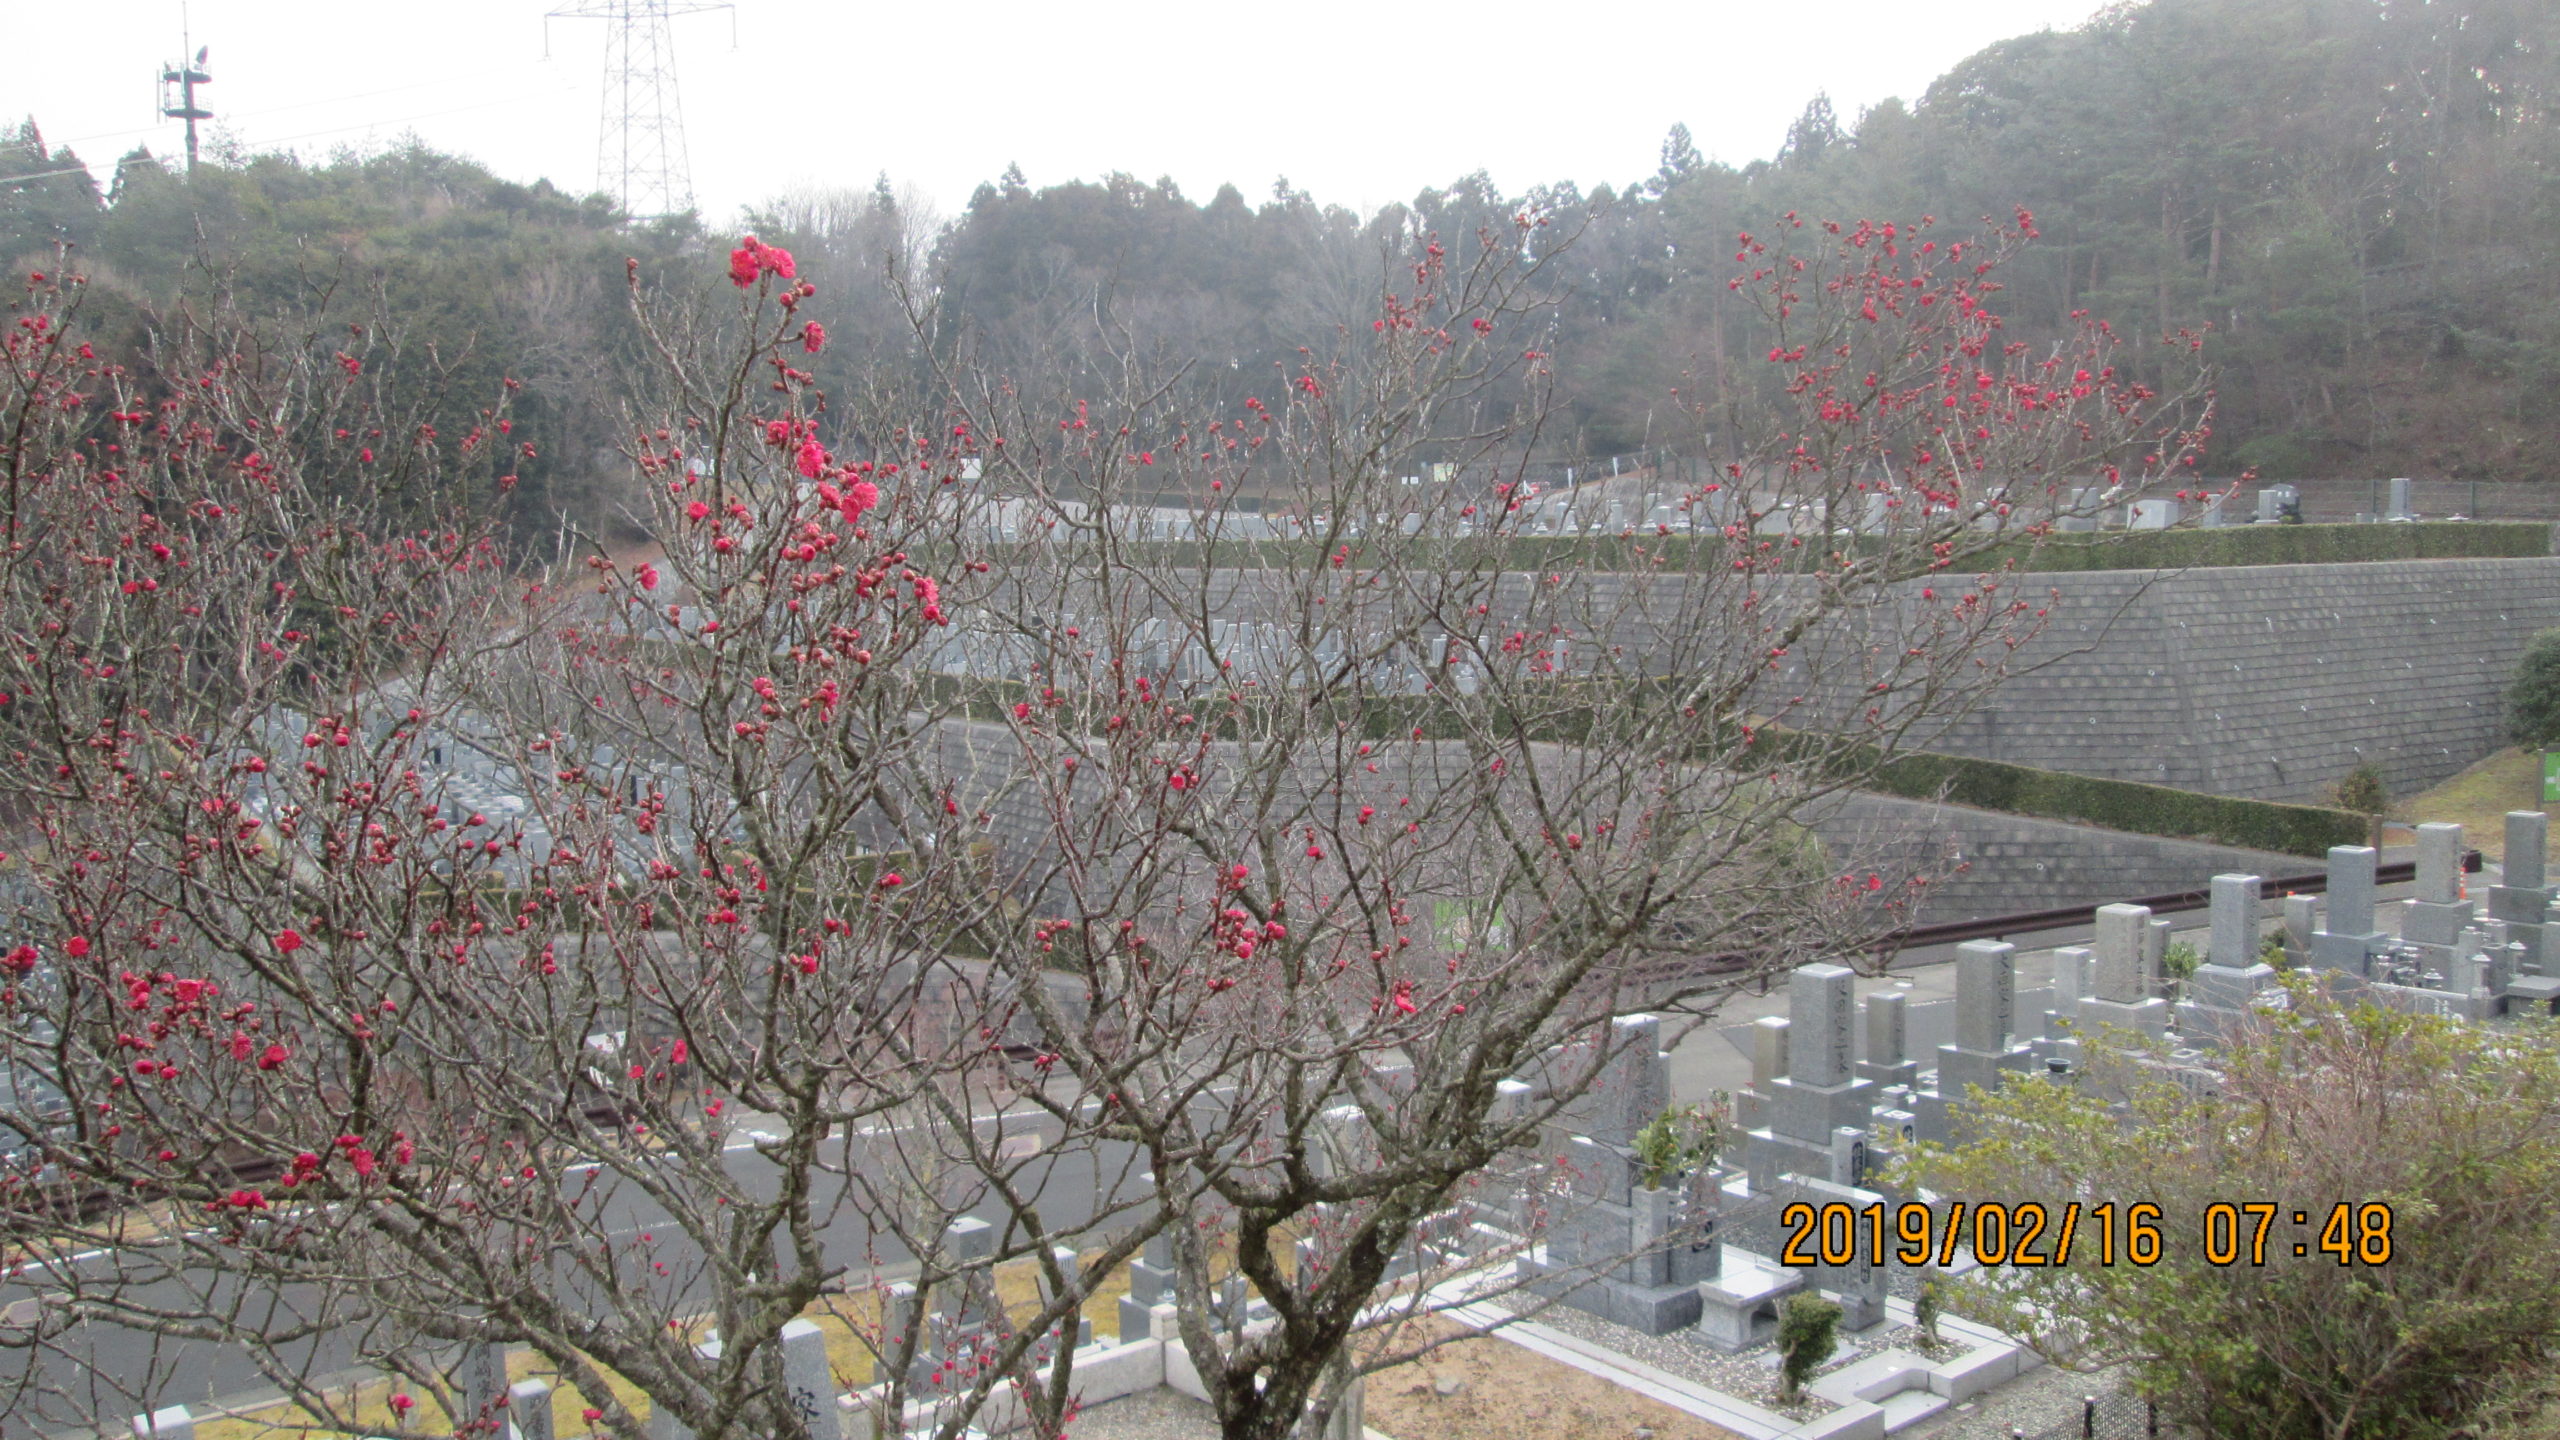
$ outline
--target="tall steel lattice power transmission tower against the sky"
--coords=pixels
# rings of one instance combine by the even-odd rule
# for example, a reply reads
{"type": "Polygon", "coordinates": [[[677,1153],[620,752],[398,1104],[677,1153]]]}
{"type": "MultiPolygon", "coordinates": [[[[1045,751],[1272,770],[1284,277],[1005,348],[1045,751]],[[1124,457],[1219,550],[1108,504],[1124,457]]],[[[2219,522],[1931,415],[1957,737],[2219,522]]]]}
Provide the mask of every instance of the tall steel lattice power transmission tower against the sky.
{"type": "Polygon", "coordinates": [[[676,15],[735,8],[719,0],[571,0],[545,20],[604,20],[604,123],[596,133],[596,190],[632,220],[694,208],[694,169],[684,154],[676,97],[676,15]]]}

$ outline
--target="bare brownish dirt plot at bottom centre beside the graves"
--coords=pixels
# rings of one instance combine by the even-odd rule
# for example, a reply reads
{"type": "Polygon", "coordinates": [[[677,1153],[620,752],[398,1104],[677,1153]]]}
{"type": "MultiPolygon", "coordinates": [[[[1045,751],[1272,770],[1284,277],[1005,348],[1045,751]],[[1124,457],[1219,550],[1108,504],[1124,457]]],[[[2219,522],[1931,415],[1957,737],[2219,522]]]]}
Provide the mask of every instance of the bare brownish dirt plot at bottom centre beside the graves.
{"type": "Polygon", "coordinates": [[[1498,1335],[1377,1371],[1364,1420],[1395,1440],[1741,1440],[1498,1335]]]}

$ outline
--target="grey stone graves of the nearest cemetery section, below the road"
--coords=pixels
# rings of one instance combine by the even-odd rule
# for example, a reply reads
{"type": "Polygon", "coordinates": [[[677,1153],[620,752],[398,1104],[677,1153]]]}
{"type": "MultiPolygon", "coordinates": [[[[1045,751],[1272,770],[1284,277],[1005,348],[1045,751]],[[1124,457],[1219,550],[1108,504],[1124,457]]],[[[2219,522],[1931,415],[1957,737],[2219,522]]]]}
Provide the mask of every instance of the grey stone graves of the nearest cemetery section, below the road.
{"type": "MultiPolygon", "coordinates": [[[[2506,817],[2504,869],[2486,887],[2473,884],[2481,858],[2463,840],[2460,825],[2417,828],[2406,899],[2378,897],[2381,856],[2365,846],[2330,851],[2322,894],[2271,897],[2260,876],[2217,874],[2202,961],[2184,979],[2166,969],[2181,922],[2140,904],[2097,907],[2086,943],[2053,948],[2035,966],[2051,966],[2051,981],[2038,986],[2020,984],[2020,951],[2007,940],[1956,945],[1953,994],[1925,1002],[1894,989],[1889,974],[1800,966],[1784,981],[1782,1012],[1692,1035],[1748,1063],[1731,1112],[1715,1117],[1720,1125],[1697,1150],[1667,1150],[1649,1135],[1677,1115],[1674,1102],[1695,1099],[1674,1097],[1664,1020],[1618,1020],[1592,1084],[1500,1184],[1423,1230],[1395,1268],[1403,1289],[1390,1286],[1382,1304],[1492,1327],[1505,1343],[1751,1440],[1871,1440],[1974,1407],[2045,1363],[1997,1330],[1920,1314],[1923,1284],[1961,1286],[1976,1261],[1951,1245],[1948,1263],[1928,1268],[1866,1263],[1861,1253],[1848,1263],[1784,1263],[1789,1230],[1802,1222],[1782,1212],[1915,1199],[1894,1189],[1897,1156],[1956,1140],[1976,1089],[2025,1076],[2071,1084],[2092,1045],[2148,1045],[2181,1084],[2214,1086],[2217,1051],[2253,1007],[2284,1002],[2278,971],[2463,1025],[2552,1015],[2560,953],[2547,951],[2547,930],[2560,887],[2547,869],[2547,817],[2506,817]],[[1782,1399],[1772,1343],[1789,1302],[1807,1297],[1836,1307],[1838,1345],[1802,1394],[1782,1399]]],[[[1569,1063],[1551,1071],[1569,1074],[1569,1063]]],[[[1533,1104],[1551,1076],[1503,1081],[1503,1104],[1533,1104]]],[[[1359,1166],[1364,1143],[1357,1109],[1329,1112],[1326,1163],[1359,1166]]],[[[986,1258],[993,1243],[993,1227],[963,1217],[945,1253],[986,1258]]],[[[1073,1266],[1075,1256],[1060,1261],[1073,1266]]],[[[1295,1263],[1326,1263],[1324,1243],[1298,1240],[1295,1263]]],[[[1044,1343],[1075,1350],[1088,1407],[1160,1389],[1206,1399],[1172,1284],[1170,1240],[1157,1235],[1126,1266],[1108,1317],[1088,1307],[1073,1335],[1044,1343]]],[[[1006,1325],[1006,1304],[991,1284],[945,1286],[929,1304],[916,1304],[914,1286],[886,1284],[878,1302],[873,1332],[791,1322],[781,1338],[786,1384],[806,1414],[868,1435],[878,1381],[904,1366],[909,1394],[922,1399],[891,1430],[924,1432],[932,1394],[1006,1325]],[[847,1345],[850,1335],[860,1340],[847,1345]],[[868,1373],[847,1363],[860,1353],[873,1355],[868,1373]]],[[[1236,1330],[1272,1322],[1242,1276],[1226,1281],[1216,1317],[1236,1330]]],[[[717,1335],[704,1340],[704,1355],[717,1345],[717,1335]]],[[[484,1348],[458,1373],[463,1402],[502,1414],[509,1435],[556,1432],[550,1384],[509,1381],[504,1353],[484,1348]]],[[[1326,1440],[1377,1435],[1362,1425],[1359,1391],[1370,1384],[1380,1381],[1354,1381],[1326,1440]]],[[[998,1394],[975,1432],[1001,1435],[1014,1414],[998,1394]]],[[[195,1440],[205,1420],[174,1407],[136,1417],[133,1432],[195,1440]]],[[[673,1422],[653,1435],[689,1440],[673,1422]]]]}

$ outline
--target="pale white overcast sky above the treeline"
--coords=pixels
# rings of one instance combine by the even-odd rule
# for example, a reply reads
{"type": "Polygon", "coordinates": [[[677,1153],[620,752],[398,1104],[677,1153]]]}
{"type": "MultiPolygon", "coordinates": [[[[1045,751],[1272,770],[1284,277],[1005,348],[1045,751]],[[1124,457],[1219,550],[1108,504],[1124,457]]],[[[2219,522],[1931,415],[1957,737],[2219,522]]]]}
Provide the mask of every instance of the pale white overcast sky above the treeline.
{"type": "MultiPolygon", "coordinates": [[[[415,131],[517,179],[596,179],[604,23],[568,0],[192,0],[202,90],[251,149],[325,156],[415,131]]],[[[676,0],[678,5],[689,0],[676,0]]],[[[1828,90],[1841,120],[2094,0],[1582,0],[1170,5],[737,0],[673,20],[704,218],[796,184],[927,192],[945,213],[1019,161],[1032,184],[1126,169],[1206,200],[1275,177],[1372,210],[1472,169],[1505,190],[1651,174],[1687,123],[1710,159],[1777,149],[1828,90]],[[735,36],[735,41],[732,41],[735,36]]],[[[148,143],[179,0],[0,0],[0,118],[97,167],[148,143]]]]}

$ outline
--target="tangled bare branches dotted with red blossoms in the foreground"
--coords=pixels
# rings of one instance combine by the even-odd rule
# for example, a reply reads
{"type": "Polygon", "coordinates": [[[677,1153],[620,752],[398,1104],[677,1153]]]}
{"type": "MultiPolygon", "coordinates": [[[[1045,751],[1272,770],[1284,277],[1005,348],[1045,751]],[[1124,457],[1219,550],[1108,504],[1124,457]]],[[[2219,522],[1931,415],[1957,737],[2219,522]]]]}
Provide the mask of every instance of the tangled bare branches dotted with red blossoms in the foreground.
{"type": "Polygon", "coordinates": [[[786,251],[737,249],[722,325],[635,279],[663,553],[548,574],[463,520],[502,402],[420,433],[320,341],[218,333],[115,374],[33,287],[23,1414],[494,1427],[458,1355],[515,1345],[602,1432],[806,1435],[819,1317],[876,1425],[1055,1435],[1060,1332],[1162,1235],[1221,1425],[1280,1437],[1498,1294],[1505,1158],[1618,1017],[1897,902],[1807,822],[2038,628],[1994,551],[2196,438],[2102,328],[2002,346],[2020,233],[1861,225],[1743,241],[1795,433],[1539,495],[1536,231],[1411,236],[1370,328],[1206,413],[1108,331],[1103,379],[993,374],[911,300],[929,384],[840,415],[786,251]],[[387,533],[389,469],[456,520],[387,533]]]}

